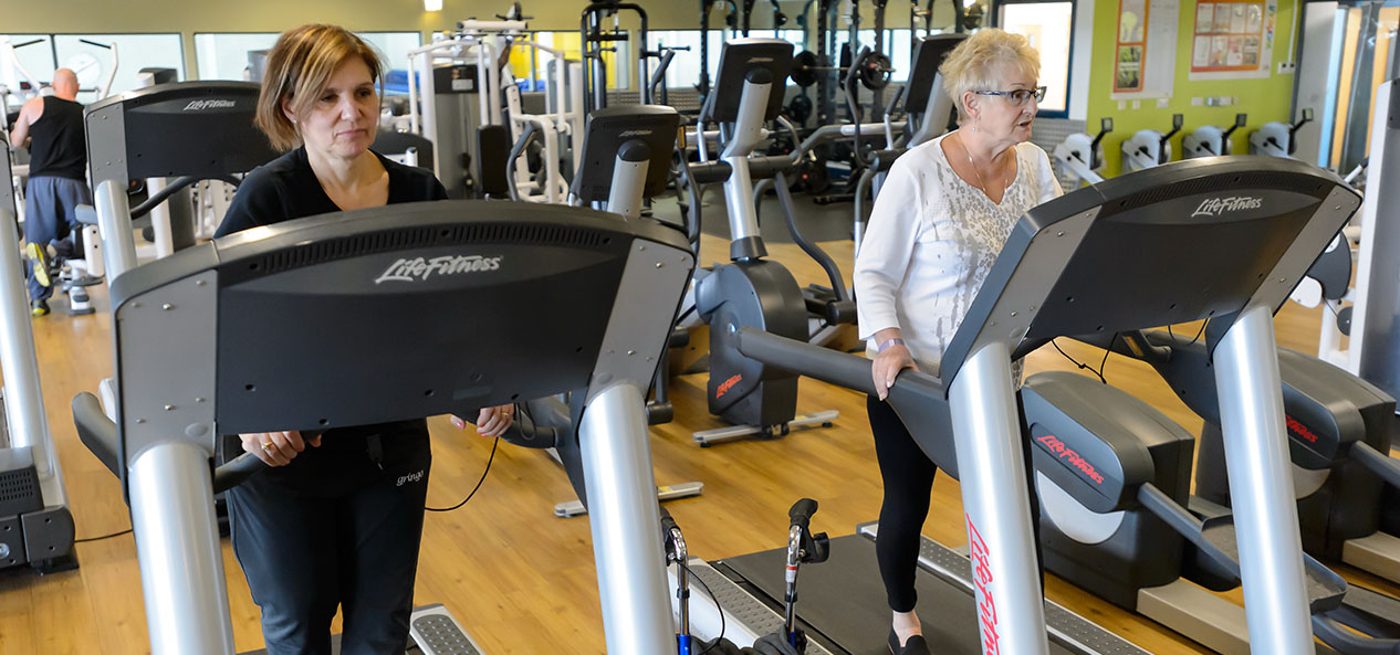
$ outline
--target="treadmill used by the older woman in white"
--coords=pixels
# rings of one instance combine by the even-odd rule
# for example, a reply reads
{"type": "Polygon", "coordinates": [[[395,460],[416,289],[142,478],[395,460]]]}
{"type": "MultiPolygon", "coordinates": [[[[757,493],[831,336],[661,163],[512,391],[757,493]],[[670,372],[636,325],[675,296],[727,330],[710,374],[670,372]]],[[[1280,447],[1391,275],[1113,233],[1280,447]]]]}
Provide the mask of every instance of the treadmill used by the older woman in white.
{"type": "MultiPolygon", "coordinates": [[[[1357,195],[1334,175],[1295,161],[1238,157],[1176,162],[1110,179],[1022,217],[944,355],[945,379],[904,371],[889,393],[930,459],[962,481],[974,593],[963,595],[966,610],[951,613],[948,627],[928,626],[937,614],[925,612],[934,649],[979,652],[973,641],[979,633],[984,654],[1081,648],[1044,627],[1011,361],[1058,336],[1232,315],[1212,347],[1218,383],[1229,389],[1221,410],[1226,460],[1231,479],[1243,481],[1231,494],[1238,509],[1233,536],[1242,556],[1249,641],[1253,652],[1320,651],[1309,624],[1271,318],[1358,206],[1357,195]],[[1123,244],[1154,246],[1124,249],[1123,244]],[[1201,263],[1183,269],[1182,252],[1200,256],[1201,263]],[[1163,280],[1162,270],[1182,274],[1163,280]],[[979,474],[960,476],[960,470],[979,474]],[[972,637],[938,641],[953,634],[972,637]]],[[[749,326],[728,329],[746,357],[860,392],[874,390],[868,360],[749,326]]],[[[1084,476],[1082,484],[1096,486],[1091,470],[1072,470],[1084,476]]],[[[1113,502],[1112,493],[1099,490],[1106,504],[1113,502]]],[[[888,614],[878,577],[876,593],[858,596],[857,578],[871,578],[861,571],[874,571],[868,550],[854,540],[839,549],[833,540],[832,558],[840,561],[804,572],[802,584],[811,586],[804,586],[808,602],[799,605],[798,614],[809,631],[825,634],[822,621],[832,613],[844,617],[869,605],[881,617],[876,631],[862,635],[861,644],[883,644],[888,614]],[[847,557],[867,557],[864,568],[847,557]],[[823,568],[833,577],[853,572],[841,582],[813,582],[823,568]],[[832,607],[820,607],[820,599],[812,602],[812,586],[836,593],[826,602],[832,607]]],[[[763,554],[746,557],[757,561],[763,554]]],[[[776,561],[749,567],[741,557],[721,565],[742,578],[736,586],[748,585],[755,596],[770,595],[771,602],[770,574],[748,577],[745,570],[777,571],[776,561]]],[[[955,605],[939,609],[948,612],[955,605]]],[[[854,648],[832,652],[861,652],[854,648]]]]}

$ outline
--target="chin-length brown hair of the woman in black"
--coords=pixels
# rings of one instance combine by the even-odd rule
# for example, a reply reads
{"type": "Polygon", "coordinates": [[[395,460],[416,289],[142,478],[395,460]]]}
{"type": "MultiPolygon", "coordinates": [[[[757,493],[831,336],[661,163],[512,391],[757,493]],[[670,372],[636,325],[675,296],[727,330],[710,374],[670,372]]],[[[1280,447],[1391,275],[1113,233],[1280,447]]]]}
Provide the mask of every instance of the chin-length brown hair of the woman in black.
{"type": "Polygon", "coordinates": [[[301,146],[297,126],[281,111],[283,101],[291,105],[291,113],[304,116],[330,83],[330,76],[351,57],[363,59],[370,67],[370,80],[379,83],[384,74],[379,55],[340,25],[301,25],[277,38],[277,45],[267,53],[267,71],[253,120],[274,148],[301,146]]]}

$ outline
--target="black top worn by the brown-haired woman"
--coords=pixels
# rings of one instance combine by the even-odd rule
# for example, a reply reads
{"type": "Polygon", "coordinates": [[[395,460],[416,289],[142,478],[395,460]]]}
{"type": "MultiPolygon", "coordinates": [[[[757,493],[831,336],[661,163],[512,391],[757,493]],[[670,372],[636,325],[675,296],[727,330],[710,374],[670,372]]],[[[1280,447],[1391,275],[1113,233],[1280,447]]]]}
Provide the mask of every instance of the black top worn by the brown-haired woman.
{"type": "MultiPolygon", "coordinates": [[[[388,204],[447,199],[433,172],[375,157],[389,174],[388,204]]],[[[214,237],[333,211],[340,207],[321,188],[302,147],[248,174],[214,237]]],[[[426,459],[427,452],[423,418],[335,428],[322,435],[321,448],[307,448],[290,465],[263,474],[297,494],[333,497],[398,474],[389,465],[426,459]]]]}

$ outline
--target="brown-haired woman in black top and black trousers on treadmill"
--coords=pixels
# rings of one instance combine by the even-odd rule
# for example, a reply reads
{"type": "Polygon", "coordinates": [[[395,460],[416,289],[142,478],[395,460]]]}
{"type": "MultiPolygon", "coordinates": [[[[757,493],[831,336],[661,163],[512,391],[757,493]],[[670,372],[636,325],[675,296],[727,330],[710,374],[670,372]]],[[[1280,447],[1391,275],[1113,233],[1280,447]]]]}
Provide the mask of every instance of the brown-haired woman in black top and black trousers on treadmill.
{"type": "MultiPolygon", "coordinates": [[[[277,39],[256,122],[290,151],[248,174],[217,237],[447,197],[430,171],[370,150],[382,69],[364,41],[336,25],[302,25],[277,39]]],[[[500,435],[510,411],[483,409],[477,431],[500,435]]],[[[228,493],[234,553],[262,609],[267,654],[330,655],[337,606],[342,655],[405,652],[431,465],[427,421],[239,438],[270,466],[228,493]]]]}

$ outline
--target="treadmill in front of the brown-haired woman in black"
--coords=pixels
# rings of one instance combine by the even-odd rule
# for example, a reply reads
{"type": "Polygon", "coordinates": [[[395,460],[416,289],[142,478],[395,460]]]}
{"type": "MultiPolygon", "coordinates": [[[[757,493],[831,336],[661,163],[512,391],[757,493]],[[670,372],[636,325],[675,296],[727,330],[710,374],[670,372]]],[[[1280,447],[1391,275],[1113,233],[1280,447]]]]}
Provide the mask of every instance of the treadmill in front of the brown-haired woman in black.
{"type": "MultiPolygon", "coordinates": [[[[202,136],[193,119],[164,132],[202,136]]],[[[130,136],[111,137],[126,147],[130,136]]],[[[105,231],[130,235],[112,179],[98,193],[112,210],[105,231]]],[[[589,498],[608,649],[675,648],[644,402],[694,267],[685,235],[587,209],[444,200],[287,221],[140,267],[106,260],[116,424],[104,425],[91,395],[74,399],[74,421],[90,448],[105,444],[94,453],[129,500],[153,654],[234,654],[210,470],[217,434],[561,392],[582,399],[567,438],[589,498]],[[571,321],[514,311],[524,297],[571,321]],[[406,315],[421,318],[412,340],[406,315]],[[273,329],[288,321],[305,329],[273,329]]]]}

